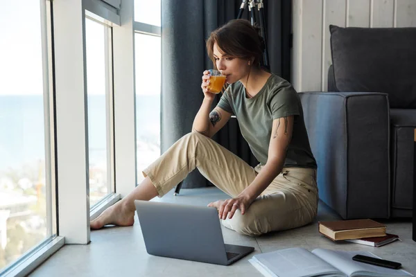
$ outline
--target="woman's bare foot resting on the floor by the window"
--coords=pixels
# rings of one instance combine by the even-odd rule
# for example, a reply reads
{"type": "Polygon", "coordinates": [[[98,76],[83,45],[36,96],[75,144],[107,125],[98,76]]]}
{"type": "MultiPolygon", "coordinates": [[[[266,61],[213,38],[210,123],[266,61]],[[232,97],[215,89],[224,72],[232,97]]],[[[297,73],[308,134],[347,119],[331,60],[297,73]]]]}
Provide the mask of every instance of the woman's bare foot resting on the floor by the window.
{"type": "Polygon", "coordinates": [[[117,226],[132,226],[135,223],[135,211],[129,211],[122,201],[108,207],[95,220],[90,222],[91,229],[101,229],[107,224],[117,226]]]}

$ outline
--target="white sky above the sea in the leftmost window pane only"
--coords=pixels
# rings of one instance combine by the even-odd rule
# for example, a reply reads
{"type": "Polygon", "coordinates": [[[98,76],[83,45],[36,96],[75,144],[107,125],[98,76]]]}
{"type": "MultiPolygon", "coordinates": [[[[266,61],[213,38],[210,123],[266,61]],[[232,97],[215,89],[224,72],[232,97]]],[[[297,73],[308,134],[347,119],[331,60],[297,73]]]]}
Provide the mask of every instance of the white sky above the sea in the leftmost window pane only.
{"type": "Polygon", "coordinates": [[[42,94],[40,1],[1,6],[0,95],[42,94]]]}

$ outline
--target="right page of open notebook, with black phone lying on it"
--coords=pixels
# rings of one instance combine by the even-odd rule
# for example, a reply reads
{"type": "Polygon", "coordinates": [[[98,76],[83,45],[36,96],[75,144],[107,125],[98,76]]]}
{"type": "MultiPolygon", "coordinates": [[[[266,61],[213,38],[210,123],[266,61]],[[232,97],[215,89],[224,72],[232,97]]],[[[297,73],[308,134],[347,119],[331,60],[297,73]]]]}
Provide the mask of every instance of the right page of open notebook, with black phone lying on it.
{"type": "Polygon", "coordinates": [[[360,272],[361,276],[413,276],[412,274],[409,274],[407,271],[402,269],[389,269],[386,267],[368,265],[363,262],[356,262],[355,260],[352,260],[352,257],[358,254],[379,258],[373,253],[367,251],[336,251],[329,249],[314,249],[312,253],[322,258],[322,260],[326,260],[334,267],[337,267],[340,269],[340,271],[343,271],[348,276],[353,276],[354,273],[357,274],[358,272],[360,272]],[[367,274],[363,274],[363,272],[367,272],[367,274]]]}

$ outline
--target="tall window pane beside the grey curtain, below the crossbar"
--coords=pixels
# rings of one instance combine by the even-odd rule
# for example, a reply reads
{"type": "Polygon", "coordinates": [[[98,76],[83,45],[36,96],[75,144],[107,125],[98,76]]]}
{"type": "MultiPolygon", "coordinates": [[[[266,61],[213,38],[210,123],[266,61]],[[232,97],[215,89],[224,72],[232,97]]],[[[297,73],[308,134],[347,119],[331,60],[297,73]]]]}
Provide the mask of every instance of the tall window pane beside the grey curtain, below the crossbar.
{"type": "Polygon", "coordinates": [[[160,37],[135,34],[137,181],[160,155],[160,37]]]}

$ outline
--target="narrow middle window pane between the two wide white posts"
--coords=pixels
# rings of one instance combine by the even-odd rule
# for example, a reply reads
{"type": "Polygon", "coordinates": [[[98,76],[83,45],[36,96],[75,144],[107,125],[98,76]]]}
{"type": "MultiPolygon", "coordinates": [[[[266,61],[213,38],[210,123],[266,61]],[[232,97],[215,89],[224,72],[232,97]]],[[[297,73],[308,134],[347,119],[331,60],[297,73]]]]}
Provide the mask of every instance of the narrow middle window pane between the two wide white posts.
{"type": "Polygon", "coordinates": [[[85,19],[87,45],[88,145],[89,145],[89,206],[108,193],[110,160],[107,148],[110,132],[107,101],[108,28],[92,19],[85,19]]]}

